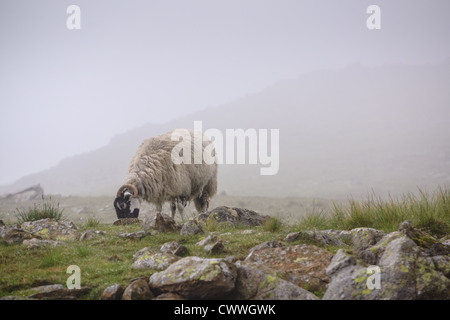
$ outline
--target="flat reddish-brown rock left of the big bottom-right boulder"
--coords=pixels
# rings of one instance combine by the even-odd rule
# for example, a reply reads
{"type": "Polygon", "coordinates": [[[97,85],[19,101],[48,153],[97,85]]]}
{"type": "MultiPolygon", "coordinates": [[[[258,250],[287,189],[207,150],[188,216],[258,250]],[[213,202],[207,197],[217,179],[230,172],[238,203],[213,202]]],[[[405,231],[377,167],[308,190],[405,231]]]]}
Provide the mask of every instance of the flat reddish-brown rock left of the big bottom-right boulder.
{"type": "Polygon", "coordinates": [[[302,244],[291,247],[266,247],[253,250],[244,263],[277,274],[298,287],[309,291],[325,291],[329,282],[326,268],[333,254],[314,245],[302,244]]]}

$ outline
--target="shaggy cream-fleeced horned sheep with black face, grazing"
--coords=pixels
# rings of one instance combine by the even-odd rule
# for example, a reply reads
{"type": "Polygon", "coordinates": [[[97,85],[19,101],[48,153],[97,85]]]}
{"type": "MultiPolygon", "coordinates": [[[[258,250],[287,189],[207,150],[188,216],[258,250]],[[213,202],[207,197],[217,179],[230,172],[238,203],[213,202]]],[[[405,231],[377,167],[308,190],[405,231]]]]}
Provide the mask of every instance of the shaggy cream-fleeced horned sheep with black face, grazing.
{"type": "MultiPolygon", "coordinates": [[[[180,129],[177,129],[180,130],[180,129]]],[[[175,147],[180,145],[178,139],[172,141],[175,130],[144,140],[131,160],[128,175],[123,185],[117,191],[114,208],[117,218],[137,218],[141,201],[156,205],[156,211],[161,213],[165,202],[170,202],[172,218],[178,209],[184,221],[184,208],[191,200],[199,213],[207,211],[209,201],[217,192],[217,161],[212,164],[203,159],[200,164],[194,162],[194,150],[205,148],[212,142],[200,133],[181,129],[184,132],[183,142],[192,141],[191,161],[176,164],[171,157],[175,147]],[[195,135],[195,136],[194,136],[195,135]],[[196,138],[194,138],[196,137],[196,138]]],[[[178,135],[178,137],[180,137],[178,135]]],[[[208,147],[213,157],[215,150],[208,147]]],[[[183,156],[185,149],[181,149],[183,156]]],[[[202,153],[203,154],[203,153],[202,153]]],[[[188,156],[188,153],[186,153],[188,156]]]]}

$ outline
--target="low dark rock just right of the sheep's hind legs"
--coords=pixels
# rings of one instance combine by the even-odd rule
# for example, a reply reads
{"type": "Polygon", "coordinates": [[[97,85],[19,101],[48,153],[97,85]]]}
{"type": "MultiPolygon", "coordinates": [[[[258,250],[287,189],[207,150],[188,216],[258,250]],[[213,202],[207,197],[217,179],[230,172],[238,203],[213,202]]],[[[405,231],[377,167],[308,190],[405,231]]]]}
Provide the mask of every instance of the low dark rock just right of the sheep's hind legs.
{"type": "Polygon", "coordinates": [[[206,222],[208,219],[215,219],[218,222],[229,222],[233,225],[243,224],[248,227],[261,226],[268,218],[268,216],[260,215],[252,210],[229,208],[226,206],[217,207],[211,211],[201,213],[197,217],[201,222],[206,222]]]}

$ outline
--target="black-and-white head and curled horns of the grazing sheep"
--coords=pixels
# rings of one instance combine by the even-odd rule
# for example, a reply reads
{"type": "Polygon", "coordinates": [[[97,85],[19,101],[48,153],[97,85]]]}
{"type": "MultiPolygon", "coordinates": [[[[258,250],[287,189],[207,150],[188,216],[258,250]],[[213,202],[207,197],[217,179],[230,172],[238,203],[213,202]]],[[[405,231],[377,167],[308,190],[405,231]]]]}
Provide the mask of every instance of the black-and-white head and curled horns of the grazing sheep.
{"type": "Polygon", "coordinates": [[[130,184],[121,186],[114,200],[117,218],[137,218],[139,216],[139,208],[140,202],[137,188],[130,184]]]}

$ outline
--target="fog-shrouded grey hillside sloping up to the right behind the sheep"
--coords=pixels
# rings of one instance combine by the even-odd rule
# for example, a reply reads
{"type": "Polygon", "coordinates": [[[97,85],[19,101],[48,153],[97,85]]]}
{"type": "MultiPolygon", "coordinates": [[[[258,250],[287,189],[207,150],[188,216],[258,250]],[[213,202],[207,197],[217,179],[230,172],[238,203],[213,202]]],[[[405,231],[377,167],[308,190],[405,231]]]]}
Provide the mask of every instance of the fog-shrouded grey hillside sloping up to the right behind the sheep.
{"type": "MultiPolygon", "coordinates": [[[[359,65],[286,80],[227,105],[149,124],[96,151],[21,178],[46,193],[111,195],[141,141],[177,127],[279,129],[277,175],[261,165],[221,165],[219,192],[251,196],[393,195],[450,183],[450,60],[421,67],[359,65]]],[[[174,92],[173,94],[176,94],[174,92]]],[[[132,106],[127,115],[132,114],[132,106]]],[[[30,159],[32,161],[32,159],[30,159]]]]}

